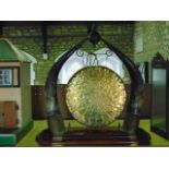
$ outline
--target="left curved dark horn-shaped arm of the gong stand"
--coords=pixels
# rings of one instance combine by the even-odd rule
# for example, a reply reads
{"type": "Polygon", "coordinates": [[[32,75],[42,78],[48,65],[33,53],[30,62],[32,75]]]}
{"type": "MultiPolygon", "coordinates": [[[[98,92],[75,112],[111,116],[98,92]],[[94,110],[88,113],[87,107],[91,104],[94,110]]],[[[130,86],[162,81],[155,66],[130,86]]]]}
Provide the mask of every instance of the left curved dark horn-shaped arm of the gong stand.
{"type": "Polygon", "coordinates": [[[75,45],[71,50],[65,52],[59,60],[53,64],[51,70],[49,71],[47,81],[46,81],[46,100],[47,100],[47,118],[49,130],[52,135],[58,136],[61,135],[64,131],[64,122],[59,111],[59,106],[56,99],[57,95],[57,80],[59,72],[64,64],[64,62],[73,55],[75,50],[82,47],[82,45],[86,41],[86,39],[80,41],[75,45]]]}

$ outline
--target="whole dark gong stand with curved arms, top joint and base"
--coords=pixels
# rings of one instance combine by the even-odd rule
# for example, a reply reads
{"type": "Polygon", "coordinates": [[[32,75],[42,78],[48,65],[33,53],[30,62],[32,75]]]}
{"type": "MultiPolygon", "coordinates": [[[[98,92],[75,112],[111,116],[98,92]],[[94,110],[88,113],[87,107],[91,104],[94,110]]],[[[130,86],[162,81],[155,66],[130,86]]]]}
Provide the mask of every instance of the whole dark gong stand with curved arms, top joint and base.
{"type": "Polygon", "coordinates": [[[96,25],[89,23],[88,37],[80,41],[72,49],[65,52],[51,68],[46,81],[47,99],[47,121],[48,129],[43,131],[37,141],[43,146],[125,146],[125,145],[147,145],[149,135],[138,128],[140,109],[142,93],[144,89],[141,73],[134,62],[122,53],[118,48],[100,37],[96,31],[96,25]],[[123,126],[111,130],[68,130],[64,126],[62,114],[57,102],[57,80],[64,62],[79,50],[86,41],[95,46],[102,41],[111,51],[113,51],[125,65],[131,77],[131,95],[128,104],[126,116],[123,126]]]}

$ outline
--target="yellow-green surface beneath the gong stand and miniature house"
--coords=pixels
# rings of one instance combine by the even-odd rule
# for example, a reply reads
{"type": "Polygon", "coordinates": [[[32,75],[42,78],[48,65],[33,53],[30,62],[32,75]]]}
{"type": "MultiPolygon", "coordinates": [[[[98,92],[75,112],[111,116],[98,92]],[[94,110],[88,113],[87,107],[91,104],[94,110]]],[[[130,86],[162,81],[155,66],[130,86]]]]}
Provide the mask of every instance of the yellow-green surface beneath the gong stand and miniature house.
{"type": "MultiPolygon", "coordinates": [[[[121,125],[122,121],[116,121],[112,125],[121,125]]],[[[65,126],[71,125],[81,125],[75,121],[65,121],[65,126]]],[[[146,130],[152,137],[150,146],[169,146],[169,141],[165,140],[164,137],[150,132],[149,130],[149,120],[141,120],[140,126],[144,130],[146,130]]],[[[34,121],[34,128],[27,133],[27,135],[22,138],[16,146],[19,147],[37,147],[38,143],[36,142],[36,135],[40,133],[44,129],[47,129],[47,121],[34,121]]]]}

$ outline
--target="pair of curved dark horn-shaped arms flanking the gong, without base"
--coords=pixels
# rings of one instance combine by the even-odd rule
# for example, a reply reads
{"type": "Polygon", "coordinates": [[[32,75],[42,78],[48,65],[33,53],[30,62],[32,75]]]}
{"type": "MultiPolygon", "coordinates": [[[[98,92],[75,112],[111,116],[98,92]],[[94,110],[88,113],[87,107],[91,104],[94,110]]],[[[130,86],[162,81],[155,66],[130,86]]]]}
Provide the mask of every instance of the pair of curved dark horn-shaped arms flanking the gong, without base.
{"type": "MultiPolygon", "coordinates": [[[[60,57],[51,68],[46,81],[48,126],[51,134],[56,137],[61,136],[65,132],[63,119],[56,99],[56,94],[57,94],[56,80],[58,79],[59,72],[62,65],[64,64],[64,62],[77,49],[80,49],[87,40],[89,39],[88,38],[83,39],[77,45],[75,45],[72,49],[65,52],[62,57],[60,57]]],[[[140,100],[141,100],[142,92],[144,89],[141,73],[137,67],[129,57],[126,57],[118,48],[116,48],[105,39],[100,38],[100,40],[119,57],[119,59],[123,62],[126,70],[129,71],[129,74],[131,77],[131,96],[128,105],[128,113],[123,122],[123,130],[130,134],[134,134],[138,129],[140,109],[141,109],[140,100]]]]}

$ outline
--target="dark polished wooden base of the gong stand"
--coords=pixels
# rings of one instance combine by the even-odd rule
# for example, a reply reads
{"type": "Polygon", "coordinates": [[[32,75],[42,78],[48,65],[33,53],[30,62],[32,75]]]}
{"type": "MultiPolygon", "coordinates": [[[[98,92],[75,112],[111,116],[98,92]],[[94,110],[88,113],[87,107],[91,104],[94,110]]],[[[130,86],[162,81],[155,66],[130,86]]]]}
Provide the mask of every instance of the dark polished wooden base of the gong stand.
{"type": "Polygon", "coordinates": [[[40,146],[137,146],[148,145],[150,136],[138,129],[135,135],[123,131],[68,131],[61,137],[52,137],[49,130],[36,137],[40,146]]]}

